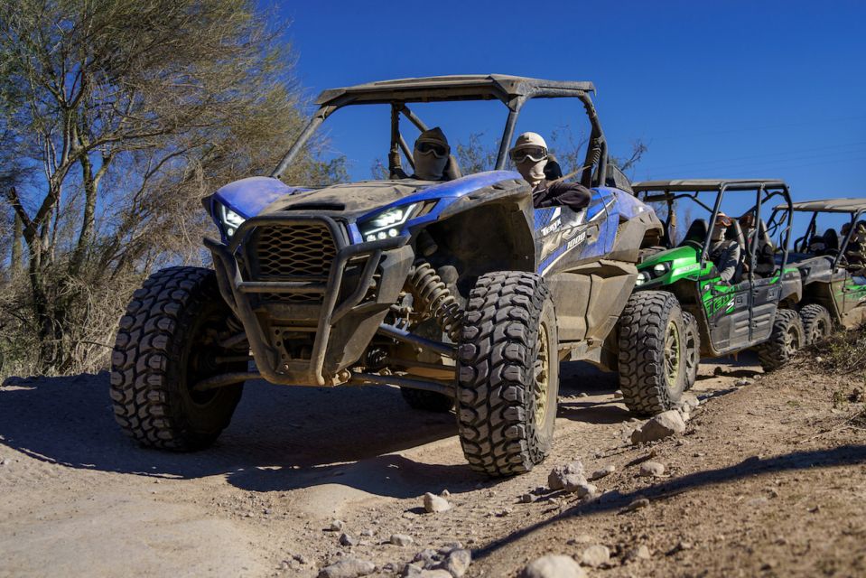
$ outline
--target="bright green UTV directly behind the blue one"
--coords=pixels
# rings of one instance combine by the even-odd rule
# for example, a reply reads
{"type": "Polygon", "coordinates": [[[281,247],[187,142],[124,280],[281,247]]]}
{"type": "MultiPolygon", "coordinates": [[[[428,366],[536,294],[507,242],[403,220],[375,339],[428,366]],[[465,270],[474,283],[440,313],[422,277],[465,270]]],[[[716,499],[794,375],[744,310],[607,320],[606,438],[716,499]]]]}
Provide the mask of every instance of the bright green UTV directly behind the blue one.
{"type": "MultiPolygon", "coordinates": [[[[638,182],[632,189],[638,199],[656,208],[665,224],[661,247],[644,251],[638,264],[633,299],[647,306],[656,304],[662,314],[677,306],[683,309],[684,326],[671,326],[666,340],[670,347],[686,351],[684,388],[694,385],[701,357],[718,358],[754,348],[765,370],[784,365],[805,343],[795,309],[801,295],[800,275],[796,268],[786,266],[792,219],[787,184],[768,180],[680,180],[638,182]],[[740,219],[750,216],[751,224],[757,224],[744,233],[739,220],[732,219],[725,232],[726,241],[740,247],[740,261],[729,281],[722,280],[712,262],[713,231],[708,226],[708,222],[717,222],[726,195],[740,207],[754,202],[740,219]],[[685,208],[686,212],[696,205],[710,219],[694,219],[677,242],[676,202],[680,200],[694,203],[685,208]],[[774,204],[782,202],[767,223],[760,217],[769,212],[770,200],[774,204]],[[775,242],[771,236],[775,236],[775,242]]],[[[625,320],[621,323],[626,326],[625,320]]],[[[639,322],[629,339],[638,343],[646,331],[646,324],[639,322]]],[[[629,355],[628,345],[620,339],[620,359],[629,355]]],[[[623,382],[621,388],[627,400],[635,395],[633,384],[623,382]]]]}

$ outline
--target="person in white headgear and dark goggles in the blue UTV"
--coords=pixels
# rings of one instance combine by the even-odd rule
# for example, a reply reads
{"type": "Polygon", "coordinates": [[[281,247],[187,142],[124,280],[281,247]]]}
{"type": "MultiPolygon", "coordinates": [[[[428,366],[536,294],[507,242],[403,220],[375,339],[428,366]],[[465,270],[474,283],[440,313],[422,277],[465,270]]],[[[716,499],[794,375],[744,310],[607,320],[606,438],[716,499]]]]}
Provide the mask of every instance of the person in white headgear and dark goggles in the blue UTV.
{"type": "Polygon", "coordinates": [[[573,210],[590,204],[592,193],[576,182],[549,182],[545,179],[545,165],[549,158],[545,139],[537,133],[524,133],[517,137],[509,152],[517,172],[532,186],[532,204],[535,209],[566,206],[573,210]]]}

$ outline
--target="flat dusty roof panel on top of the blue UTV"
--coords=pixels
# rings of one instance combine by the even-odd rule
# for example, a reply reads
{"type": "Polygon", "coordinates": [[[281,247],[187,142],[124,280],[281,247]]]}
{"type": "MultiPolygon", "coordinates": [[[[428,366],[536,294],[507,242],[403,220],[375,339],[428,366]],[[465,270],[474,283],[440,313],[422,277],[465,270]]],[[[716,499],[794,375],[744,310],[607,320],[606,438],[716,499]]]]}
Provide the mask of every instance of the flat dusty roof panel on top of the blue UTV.
{"type": "Polygon", "coordinates": [[[511,98],[568,98],[594,92],[591,82],[529,79],[505,74],[467,74],[368,82],[342,89],[328,89],[317,105],[434,102],[441,100],[490,100],[511,98]]]}

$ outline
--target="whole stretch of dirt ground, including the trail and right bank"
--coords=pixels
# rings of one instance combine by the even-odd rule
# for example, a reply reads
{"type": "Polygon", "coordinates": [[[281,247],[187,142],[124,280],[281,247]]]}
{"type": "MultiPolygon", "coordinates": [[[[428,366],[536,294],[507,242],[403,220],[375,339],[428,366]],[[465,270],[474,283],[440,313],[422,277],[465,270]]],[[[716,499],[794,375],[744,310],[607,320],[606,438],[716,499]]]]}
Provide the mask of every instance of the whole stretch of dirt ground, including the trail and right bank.
{"type": "Polygon", "coordinates": [[[758,373],[749,359],[721,377],[714,367],[702,368],[686,435],[648,450],[624,443],[636,423],[614,378],[566,364],[554,455],[499,481],[464,464],[453,415],[408,409],[392,388],[250,383],[215,447],[171,454],[119,433],[106,374],[14,381],[0,388],[0,576],[315,576],[349,555],[399,575],[419,550],[454,541],[473,551],[469,575],[516,575],[589,542],[613,555],[591,575],[866,575],[862,431],[819,433],[847,411],[828,391],[851,384],[804,400],[816,382],[798,380],[802,369],[735,387],[758,373]],[[665,477],[636,477],[650,451],[665,477]],[[617,467],[601,499],[518,503],[574,458],[617,467]],[[424,514],[424,492],[443,489],[453,508],[424,514]],[[642,496],[649,508],[619,514],[642,496]],[[856,516],[842,523],[839,508],[856,516]],[[356,545],[324,530],[334,519],[356,545]],[[414,544],[386,543],[398,533],[414,544]],[[651,557],[624,564],[638,544],[651,557]]]}

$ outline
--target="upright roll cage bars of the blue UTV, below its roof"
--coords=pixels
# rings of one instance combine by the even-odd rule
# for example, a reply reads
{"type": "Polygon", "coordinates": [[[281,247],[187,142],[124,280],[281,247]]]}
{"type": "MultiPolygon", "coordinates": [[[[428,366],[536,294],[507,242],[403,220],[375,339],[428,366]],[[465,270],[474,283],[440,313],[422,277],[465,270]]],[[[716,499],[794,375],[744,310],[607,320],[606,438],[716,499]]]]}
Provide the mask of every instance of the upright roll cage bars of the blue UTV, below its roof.
{"type": "MultiPolygon", "coordinates": [[[[599,121],[598,113],[595,110],[595,106],[592,104],[592,100],[589,95],[583,93],[575,95],[572,90],[556,90],[556,89],[544,89],[544,91],[536,91],[541,92],[538,96],[535,96],[533,92],[529,92],[526,95],[510,98],[505,104],[508,107],[508,117],[506,119],[505,128],[502,131],[502,139],[499,141],[499,149],[496,157],[496,166],[494,170],[501,171],[505,169],[505,164],[508,158],[508,148],[511,144],[511,139],[514,136],[514,129],[517,126],[517,117],[520,115],[521,108],[526,104],[526,101],[531,98],[559,98],[559,97],[571,97],[571,98],[580,98],[583,103],[583,108],[586,110],[586,115],[589,117],[590,125],[591,125],[591,133],[590,133],[590,141],[587,145],[586,149],[586,157],[584,161],[584,167],[587,167],[591,170],[593,165],[597,165],[597,169],[595,175],[592,178],[592,181],[601,186],[607,180],[607,172],[608,172],[608,144],[607,140],[604,137],[604,132],[601,130],[601,122],[599,121]]],[[[505,101],[503,101],[505,102],[505,101]]],[[[351,104],[350,98],[339,99],[335,104],[322,105],[316,111],[316,113],[310,119],[310,122],[304,126],[301,134],[298,135],[297,140],[294,141],[292,147],[288,150],[288,152],[284,155],[280,163],[276,165],[276,168],[273,172],[271,172],[271,177],[278,179],[285,169],[288,168],[289,164],[291,164],[294,158],[301,152],[303,149],[303,145],[310,140],[310,137],[316,132],[316,130],[321,126],[321,124],[328,118],[331,117],[337,110],[342,107],[349,106],[351,104]]],[[[394,169],[399,166],[399,154],[400,151],[403,151],[403,154],[406,156],[406,160],[408,163],[414,168],[414,163],[412,161],[412,150],[409,148],[409,145],[405,142],[403,135],[400,134],[400,115],[405,116],[414,126],[418,128],[418,130],[424,132],[427,130],[427,126],[424,125],[424,121],[421,118],[417,117],[417,115],[412,112],[409,107],[406,107],[405,102],[402,101],[393,101],[391,103],[391,146],[388,150],[388,170],[389,172],[393,172],[394,169]]],[[[587,170],[587,169],[584,169],[587,170]]]]}

